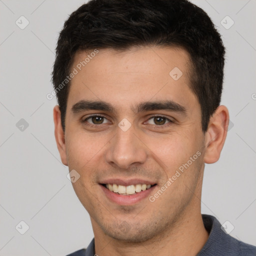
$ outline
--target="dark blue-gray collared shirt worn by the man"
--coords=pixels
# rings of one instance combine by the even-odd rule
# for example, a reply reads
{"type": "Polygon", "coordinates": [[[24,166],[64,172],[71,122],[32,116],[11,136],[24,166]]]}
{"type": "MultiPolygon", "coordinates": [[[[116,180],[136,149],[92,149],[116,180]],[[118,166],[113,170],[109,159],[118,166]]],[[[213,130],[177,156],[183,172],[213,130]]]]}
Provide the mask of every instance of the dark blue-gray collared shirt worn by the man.
{"type": "MultiPolygon", "coordinates": [[[[256,246],[241,242],[226,234],[215,217],[202,214],[202,220],[209,237],[196,256],[256,256],[256,246]]],[[[87,249],[80,249],[66,256],[94,256],[94,254],[93,238],[87,249]]]]}

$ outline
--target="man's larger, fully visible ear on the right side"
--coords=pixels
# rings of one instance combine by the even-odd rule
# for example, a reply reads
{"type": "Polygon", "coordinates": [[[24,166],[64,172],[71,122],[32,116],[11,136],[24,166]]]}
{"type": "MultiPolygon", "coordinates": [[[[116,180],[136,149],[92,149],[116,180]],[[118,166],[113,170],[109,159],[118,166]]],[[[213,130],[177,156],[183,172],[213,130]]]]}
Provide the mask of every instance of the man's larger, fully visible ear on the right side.
{"type": "Polygon", "coordinates": [[[228,110],[224,105],[216,108],[210,117],[208,129],[205,135],[205,154],[203,161],[213,163],[219,159],[224,145],[229,123],[228,110]]]}

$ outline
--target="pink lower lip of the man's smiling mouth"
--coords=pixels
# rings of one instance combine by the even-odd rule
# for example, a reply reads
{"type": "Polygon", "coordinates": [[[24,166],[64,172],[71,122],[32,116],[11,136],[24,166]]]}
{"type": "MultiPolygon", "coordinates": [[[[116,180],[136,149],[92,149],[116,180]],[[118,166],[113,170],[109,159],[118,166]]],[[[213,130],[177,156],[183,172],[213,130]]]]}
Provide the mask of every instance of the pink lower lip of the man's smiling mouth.
{"type": "Polygon", "coordinates": [[[149,194],[153,191],[153,189],[156,187],[156,185],[151,186],[150,188],[135,193],[135,194],[131,194],[131,195],[121,195],[118,193],[114,193],[111,192],[109,189],[107,189],[106,187],[104,187],[103,185],[100,185],[101,189],[103,190],[103,192],[105,193],[106,197],[112,201],[115,202],[117,204],[120,205],[132,205],[135,204],[139,201],[141,201],[142,199],[144,199],[145,197],[148,197],[149,194]]]}

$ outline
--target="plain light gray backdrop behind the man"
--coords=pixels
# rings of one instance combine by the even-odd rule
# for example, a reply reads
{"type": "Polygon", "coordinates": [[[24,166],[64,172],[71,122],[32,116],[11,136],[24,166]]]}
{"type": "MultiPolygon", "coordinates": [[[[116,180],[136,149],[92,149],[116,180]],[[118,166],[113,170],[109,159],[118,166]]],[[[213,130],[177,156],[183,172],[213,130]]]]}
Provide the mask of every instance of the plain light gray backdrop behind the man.
{"type": "MultiPolygon", "coordinates": [[[[232,122],[219,161],[205,166],[202,212],[228,220],[230,235],[256,245],[256,0],[193,2],[226,46],[222,104],[232,122]],[[220,23],[231,24],[227,15],[229,29],[220,23]]],[[[65,255],[93,237],[55,144],[56,99],[46,98],[58,32],[82,3],[0,0],[0,255],[65,255]],[[15,23],[21,15],[29,21],[24,29],[15,23]],[[29,226],[24,234],[21,220],[29,226]]]]}

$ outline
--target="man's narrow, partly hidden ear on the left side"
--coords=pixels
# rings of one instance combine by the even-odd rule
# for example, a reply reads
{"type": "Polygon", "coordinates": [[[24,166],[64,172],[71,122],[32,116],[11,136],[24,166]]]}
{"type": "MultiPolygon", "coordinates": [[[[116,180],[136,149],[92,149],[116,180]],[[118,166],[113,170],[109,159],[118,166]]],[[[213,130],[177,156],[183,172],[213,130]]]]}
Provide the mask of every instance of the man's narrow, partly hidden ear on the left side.
{"type": "Polygon", "coordinates": [[[61,113],[59,110],[59,106],[55,105],[53,108],[53,120],[54,120],[54,126],[55,126],[54,135],[55,135],[57,148],[60,154],[61,161],[64,165],[67,165],[65,135],[61,125],[60,116],[61,116],[61,113]]]}

